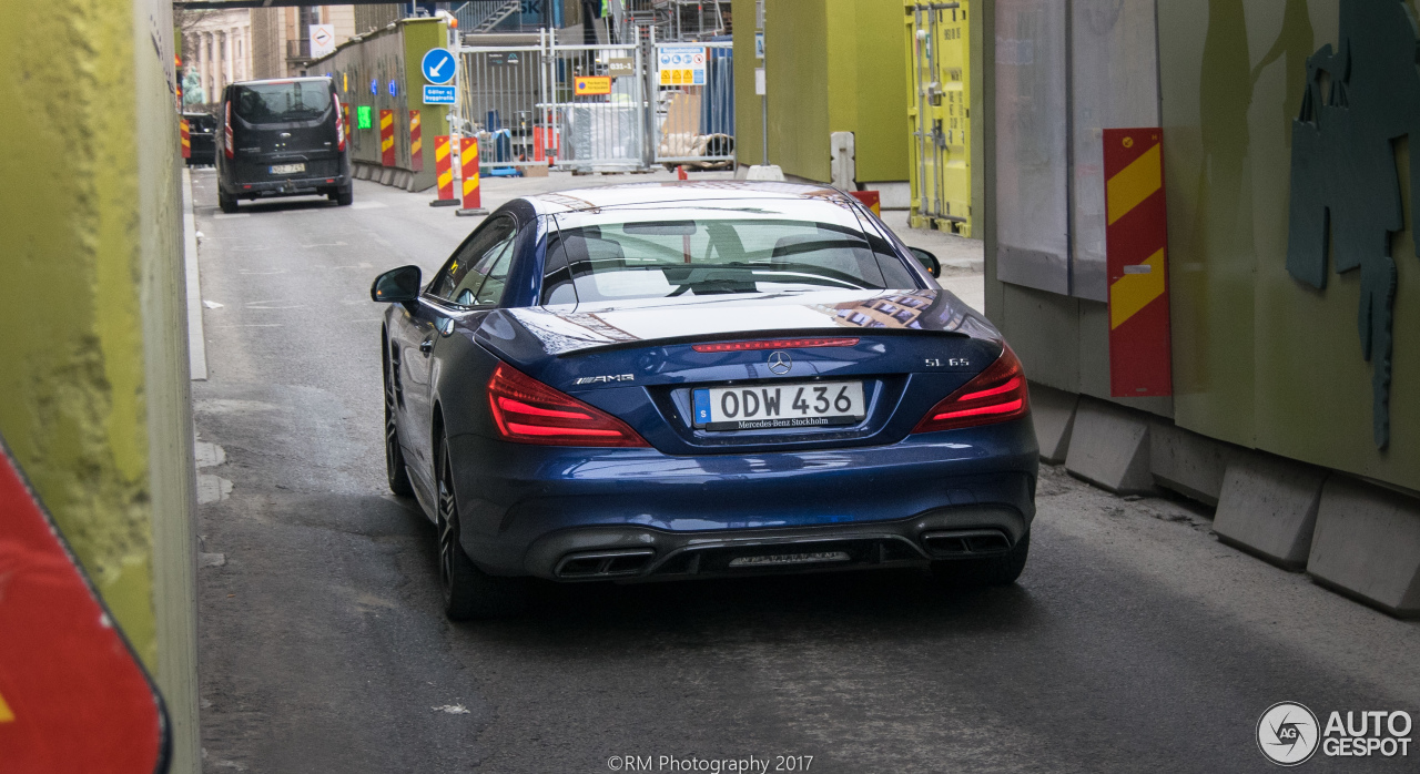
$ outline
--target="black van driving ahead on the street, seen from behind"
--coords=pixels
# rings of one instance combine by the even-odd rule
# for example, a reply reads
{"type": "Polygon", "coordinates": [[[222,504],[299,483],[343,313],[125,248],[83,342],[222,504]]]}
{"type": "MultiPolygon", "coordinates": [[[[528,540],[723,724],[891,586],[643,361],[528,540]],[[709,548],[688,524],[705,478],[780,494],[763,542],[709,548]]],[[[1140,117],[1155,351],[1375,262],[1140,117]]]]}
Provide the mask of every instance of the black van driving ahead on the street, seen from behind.
{"type": "Polygon", "coordinates": [[[241,81],[222,94],[217,203],[325,195],[354,200],[341,99],[329,78],[241,81]]]}

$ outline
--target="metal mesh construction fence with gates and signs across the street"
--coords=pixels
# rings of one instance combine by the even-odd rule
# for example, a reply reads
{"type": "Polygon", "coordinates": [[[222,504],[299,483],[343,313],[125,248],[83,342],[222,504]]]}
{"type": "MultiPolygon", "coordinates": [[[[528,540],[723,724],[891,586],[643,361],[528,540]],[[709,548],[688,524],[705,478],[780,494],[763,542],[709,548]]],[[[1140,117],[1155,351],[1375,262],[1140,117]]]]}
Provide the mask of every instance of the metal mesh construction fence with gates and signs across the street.
{"type": "MultiPolygon", "coordinates": [[[[650,33],[648,30],[648,33],[650,33]]],[[[638,170],[734,165],[730,43],[459,48],[454,126],[483,166],[638,170]],[[648,94],[653,99],[648,99],[648,94]]]]}

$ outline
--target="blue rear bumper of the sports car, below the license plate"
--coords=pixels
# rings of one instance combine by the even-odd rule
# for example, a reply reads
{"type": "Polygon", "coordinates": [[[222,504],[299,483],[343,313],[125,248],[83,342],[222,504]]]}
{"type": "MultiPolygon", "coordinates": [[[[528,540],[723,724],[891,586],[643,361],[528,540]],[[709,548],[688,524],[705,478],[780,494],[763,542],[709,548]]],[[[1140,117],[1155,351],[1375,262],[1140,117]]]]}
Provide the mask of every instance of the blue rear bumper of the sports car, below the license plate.
{"type": "Polygon", "coordinates": [[[525,446],[474,435],[450,437],[450,453],[464,550],[500,575],[582,579],[565,572],[569,557],[596,552],[643,557],[612,562],[635,564],[636,572],[598,578],[922,564],[949,558],[939,548],[956,538],[939,540],[944,533],[980,531],[977,543],[1004,550],[1035,516],[1038,450],[1028,418],[890,446],[747,456],[525,446]],[[814,552],[795,545],[824,541],[841,543],[825,551],[849,561],[728,565],[754,554],[814,552]]]}

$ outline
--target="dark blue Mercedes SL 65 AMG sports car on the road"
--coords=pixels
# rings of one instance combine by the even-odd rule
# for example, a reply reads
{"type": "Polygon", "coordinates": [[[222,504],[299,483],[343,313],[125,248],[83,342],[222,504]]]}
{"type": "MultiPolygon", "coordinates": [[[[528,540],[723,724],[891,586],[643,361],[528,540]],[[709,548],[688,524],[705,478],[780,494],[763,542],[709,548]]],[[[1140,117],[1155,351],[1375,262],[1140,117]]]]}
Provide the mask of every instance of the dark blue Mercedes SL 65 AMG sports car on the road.
{"type": "Polygon", "coordinates": [[[515,199],[389,302],[389,486],[437,524],[450,618],[528,577],[923,567],[1014,582],[1035,514],[1001,334],[825,186],[515,199]]]}

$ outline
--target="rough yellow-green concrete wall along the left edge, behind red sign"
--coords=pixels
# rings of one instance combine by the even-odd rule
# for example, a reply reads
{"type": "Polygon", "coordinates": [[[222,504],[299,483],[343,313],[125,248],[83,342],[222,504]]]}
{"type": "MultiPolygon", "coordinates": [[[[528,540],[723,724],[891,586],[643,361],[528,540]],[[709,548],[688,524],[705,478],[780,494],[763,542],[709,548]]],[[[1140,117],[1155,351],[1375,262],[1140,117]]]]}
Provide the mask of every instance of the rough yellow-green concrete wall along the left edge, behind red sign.
{"type": "Polygon", "coordinates": [[[0,50],[0,433],[156,677],[172,770],[197,771],[172,30],[160,0],[0,16],[27,41],[0,50]]]}

